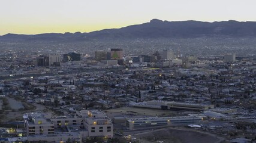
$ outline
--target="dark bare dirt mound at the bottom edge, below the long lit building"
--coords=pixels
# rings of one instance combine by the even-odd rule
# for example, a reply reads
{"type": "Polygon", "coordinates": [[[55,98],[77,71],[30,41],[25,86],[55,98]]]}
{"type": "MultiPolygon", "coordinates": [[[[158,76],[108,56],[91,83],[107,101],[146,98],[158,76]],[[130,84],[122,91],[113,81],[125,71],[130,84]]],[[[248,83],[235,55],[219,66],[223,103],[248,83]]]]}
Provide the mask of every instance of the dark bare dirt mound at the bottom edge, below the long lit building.
{"type": "Polygon", "coordinates": [[[218,143],[224,140],[224,138],[212,135],[210,133],[204,133],[191,129],[173,128],[165,128],[146,133],[138,133],[134,136],[135,138],[140,139],[140,142],[147,143],[153,143],[157,141],[163,141],[166,143],[218,143]]]}

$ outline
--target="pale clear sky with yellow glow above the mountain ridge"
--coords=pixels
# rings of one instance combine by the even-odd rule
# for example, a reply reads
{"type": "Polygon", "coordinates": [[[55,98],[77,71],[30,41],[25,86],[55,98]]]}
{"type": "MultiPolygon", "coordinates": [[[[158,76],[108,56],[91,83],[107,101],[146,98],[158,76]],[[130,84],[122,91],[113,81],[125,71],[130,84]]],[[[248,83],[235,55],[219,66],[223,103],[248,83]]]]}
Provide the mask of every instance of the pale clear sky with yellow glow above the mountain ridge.
{"type": "Polygon", "coordinates": [[[255,0],[0,0],[0,35],[92,32],[157,18],[256,21],[255,0]]]}

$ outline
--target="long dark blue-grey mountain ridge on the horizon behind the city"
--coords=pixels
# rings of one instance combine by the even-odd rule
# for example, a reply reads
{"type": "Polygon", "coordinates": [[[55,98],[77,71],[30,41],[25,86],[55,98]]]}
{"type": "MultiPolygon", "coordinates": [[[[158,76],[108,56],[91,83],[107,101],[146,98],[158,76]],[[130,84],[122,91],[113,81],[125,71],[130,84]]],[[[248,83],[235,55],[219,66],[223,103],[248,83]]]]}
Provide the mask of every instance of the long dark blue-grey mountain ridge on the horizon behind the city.
{"type": "Polygon", "coordinates": [[[162,21],[153,19],[149,23],[104,29],[90,33],[44,33],[38,35],[7,34],[0,41],[85,41],[91,39],[131,39],[131,38],[199,38],[199,37],[256,37],[254,21],[162,21]]]}

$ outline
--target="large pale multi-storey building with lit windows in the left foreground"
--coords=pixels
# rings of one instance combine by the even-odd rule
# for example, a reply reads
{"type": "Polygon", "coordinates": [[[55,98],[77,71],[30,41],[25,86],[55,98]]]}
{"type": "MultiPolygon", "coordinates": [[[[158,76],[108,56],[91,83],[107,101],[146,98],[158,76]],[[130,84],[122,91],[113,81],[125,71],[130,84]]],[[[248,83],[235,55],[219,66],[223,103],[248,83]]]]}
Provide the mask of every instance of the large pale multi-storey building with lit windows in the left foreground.
{"type": "Polygon", "coordinates": [[[62,138],[65,135],[76,141],[90,136],[113,137],[112,120],[98,110],[82,110],[77,111],[73,117],[55,118],[46,117],[40,112],[26,113],[23,119],[28,141],[65,141],[68,139],[62,138]]]}

